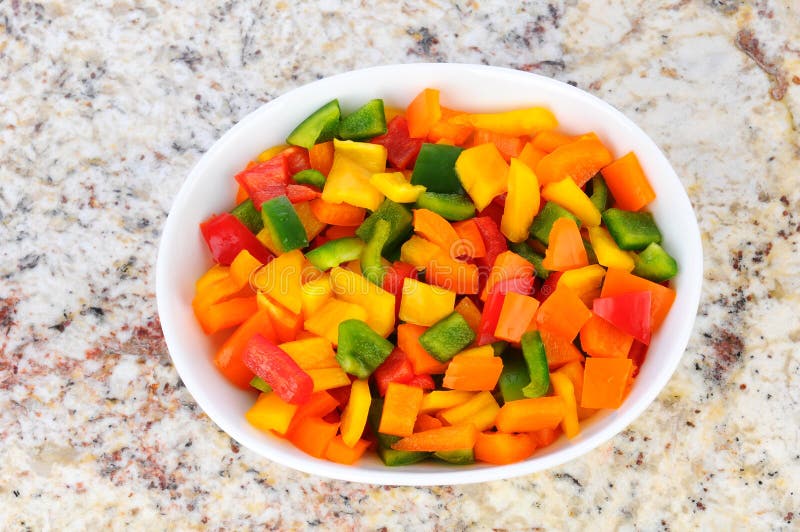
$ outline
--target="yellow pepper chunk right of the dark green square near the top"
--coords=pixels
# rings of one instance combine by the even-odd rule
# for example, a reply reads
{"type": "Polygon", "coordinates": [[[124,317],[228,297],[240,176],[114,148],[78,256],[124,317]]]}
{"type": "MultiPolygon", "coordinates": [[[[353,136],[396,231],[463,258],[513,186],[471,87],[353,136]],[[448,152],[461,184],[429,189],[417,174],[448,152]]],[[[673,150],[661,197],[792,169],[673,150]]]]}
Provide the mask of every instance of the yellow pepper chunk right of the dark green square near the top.
{"type": "Polygon", "coordinates": [[[456,173],[479,211],[508,185],[508,164],[491,142],[462,151],[456,159],[456,173]]]}

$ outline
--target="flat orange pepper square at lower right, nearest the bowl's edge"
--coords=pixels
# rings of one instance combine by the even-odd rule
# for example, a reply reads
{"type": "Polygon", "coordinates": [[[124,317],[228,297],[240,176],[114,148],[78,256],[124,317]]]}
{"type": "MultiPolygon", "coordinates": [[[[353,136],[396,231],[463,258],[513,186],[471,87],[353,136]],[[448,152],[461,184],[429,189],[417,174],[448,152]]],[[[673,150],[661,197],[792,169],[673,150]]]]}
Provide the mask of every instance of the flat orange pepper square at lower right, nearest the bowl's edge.
{"type": "Polygon", "coordinates": [[[589,358],[583,374],[583,408],[619,408],[633,369],[629,358],[589,358]]]}

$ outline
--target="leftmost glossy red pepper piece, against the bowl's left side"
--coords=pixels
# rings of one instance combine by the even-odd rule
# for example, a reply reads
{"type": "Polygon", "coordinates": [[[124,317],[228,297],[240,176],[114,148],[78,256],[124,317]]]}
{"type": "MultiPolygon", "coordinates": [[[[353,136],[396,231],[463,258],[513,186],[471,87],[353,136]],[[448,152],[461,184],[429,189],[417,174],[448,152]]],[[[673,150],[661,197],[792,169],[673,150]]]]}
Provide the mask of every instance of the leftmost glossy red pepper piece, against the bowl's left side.
{"type": "Polygon", "coordinates": [[[262,264],[272,260],[272,254],[267,248],[238,218],[228,212],[214,215],[201,223],[200,232],[203,233],[211,256],[225,266],[230,265],[243,249],[262,264]]]}

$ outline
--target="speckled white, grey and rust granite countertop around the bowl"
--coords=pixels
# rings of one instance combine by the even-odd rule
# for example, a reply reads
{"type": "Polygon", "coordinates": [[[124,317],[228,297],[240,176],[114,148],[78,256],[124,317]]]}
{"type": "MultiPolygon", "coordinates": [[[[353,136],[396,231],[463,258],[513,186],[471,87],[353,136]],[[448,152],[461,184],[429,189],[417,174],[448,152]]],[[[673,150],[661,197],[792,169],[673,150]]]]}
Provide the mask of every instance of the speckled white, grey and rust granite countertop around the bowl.
{"type": "Polygon", "coordinates": [[[800,6],[750,4],[0,1],[0,527],[796,528],[800,6]],[[682,363],[563,467],[438,488],[298,473],[220,432],[170,362],[156,246],[203,152],[303,83],[414,61],[604,98],[697,210],[682,363]]]}

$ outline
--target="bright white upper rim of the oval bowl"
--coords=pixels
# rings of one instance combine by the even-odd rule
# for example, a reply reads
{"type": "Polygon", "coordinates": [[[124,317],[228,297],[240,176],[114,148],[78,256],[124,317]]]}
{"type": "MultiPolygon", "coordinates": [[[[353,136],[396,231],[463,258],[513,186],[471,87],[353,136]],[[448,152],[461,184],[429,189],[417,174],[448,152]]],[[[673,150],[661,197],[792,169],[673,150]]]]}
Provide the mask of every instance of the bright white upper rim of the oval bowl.
{"type": "MultiPolygon", "coordinates": [[[[664,386],[670,380],[678,364],[680,363],[683,353],[685,352],[686,347],[688,345],[689,339],[694,329],[695,317],[700,302],[700,293],[703,281],[702,257],[703,257],[703,252],[700,240],[700,231],[697,224],[697,217],[694,212],[694,208],[691,205],[691,201],[689,200],[689,197],[686,193],[686,190],[683,187],[682,183],[680,182],[680,179],[678,178],[674,169],[670,165],[669,161],[667,160],[666,156],[663,154],[661,149],[655,144],[655,142],[650,138],[650,136],[647,135],[641,128],[639,128],[639,126],[637,126],[624,113],[617,110],[609,103],[568,83],[564,83],[538,74],[513,70],[510,68],[487,66],[487,65],[473,65],[466,63],[388,64],[388,65],[374,66],[374,67],[357,69],[336,74],[334,76],[322,78],[313,81],[311,83],[291,89],[290,91],[287,91],[286,93],[276,97],[275,99],[263,104],[259,108],[250,112],[247,116],[242,118],[233,127],[228,129],[219,139],[217,139],[214,142],[214,144],[210,147],[210,149],[202,155],[200,160],[195,164],[192,171],[189,173],[184,182],[181,184],[180,190],[178,191],[178,194],[175,196],[172,202],[172,206],[170,207],[167,220],[164,224],[163,231],[160,236],[160,242],[158,247],[157,263],[156,263],[156,299],[157,299],[157,310],[160,317],[161,327],[167,348],[170,352],[170,358],[172,359],[175,369],[179,377],[182,379],[187,390],[192,395],[193,399],[197,402],[197,404],[200,406],[200,408],[203,410],[203,412],[206,413],[206,415],[208,415],[208,417],[211,419],[212,422],[214,422],[220,429],[222,429],[230,437],[234,438],[235,440],[237,440],[239,443],[241,443],[254,453],[264,458],[267,458],[273,462],[289,466],[293,469],[305,473],[319,475],[337,480],[347,480],[347,481],[354,481],[354,482],[361,482],[361,483],[375,484],[375,485],[430,486],[430,485],[471,484],[471,483],[485,482],[490,480],[501,480],[501,479],[517,477],[560,466],[583,454],[588,453],[589,451],[607,442],[612,437],[616,436],[619,432],[624,430],[636,418],[638,418],[644,412],[644,410],[646,410],[650,406],[650,404],[652,404],[652,402],[655,400],[658,394],[661,393],[664,386]],[[180,213],[184,208],[186,208],[186,205],[191,200],[190,192],[195,188],[195,185],[200,180],[201,176],[203,176],[203,174],[206,173],[206,170],[211,165],[212,160],[216,159],[220,153],[224,153],[226,151],[229,145],[235,141],[235,138],[240,130],[247,128],[251,122],[258,121],[262,115],[264,115],[265,113],[269,113],[271,109],[280,106],[282,99],[286,97],[286,95],[288,94],[295,93],[297,91],[311,92],[316,90],[317,87],[324,86],[325,84],[334,83],[341,79],[346,79],[348,77],[353,77],[354,75],[380,76],[382,73],[387,73],[390,71],[395,72],[397,70],[403,71],[404,74],[409,76],[412,75],[424,76],[424,74],[427,72],[432,72],[434,70],[437,71],[444,70],[453,72],[458,71],[466,73],[476,73],[479,75],[490,74],[492,76],[504,76],[512,81],[515,79],[524,78],[527,82],[530,82],[531,80],[536,80],[537,83],[540,83],[542,84],[542,86],[548,87],[552,90],[567,91],[571,93],[572,97],[584,100],[585,103],[591,106],[602,108],[607,113],[615,115],[616,119],[619,120],[622,124],[624,124],[628,129],[630,129],[634,135],[641,137],[642,139],[645,140],[645,142],[651,144],[652,148],[655,149],[656,157],[658,159],[658,164],[662,166],[664,169],[668,170],[669,180],[674,181],[675,184],[679,186],[679,190],[675,191],[679,196],[681,196],[679,199],[686,201],[692,212],[691,223],[685,229],[687,233],[686,238],[689,240],[689,242],[687,243],[687,246],[689,248],[689,253],[692,257],[696,257],[697,260],[693,261],[693,263],[691,264],[692,266],[692,268],[690,269],[692,276],[692,278],[690,279],[691,282],[687,282],[688,287],[684,287],[684,290],[680,294],[681,297],[688,298],[687,308],[691,309],[692,317],[686,322],[682,322],[683,326],[680,327],[679,330],[677,331],[678,334],[673,336],[671,339],[672,340],[671,344],[674,347],[669,352],[676,354],[672,356],[672,358],[670,359],[669,365],[667,365],[661,373],[657,374],[655,382],[647,388],[641,400],[628,405],[628,408],[617,410],[615,414],[618,415],[613,416],[613,418],[609,421],[608,425],[604,426],[597,433],[592,434],[586,439],[583,439],[573,445],[569,445],[565,449],[556,451],[553,455],[547,455],[538,458],[534,455],[533,457],[525,461],[509,465],[502,465],[502,466],[479,465],[469,468],[454,467],[452,470],[446,470],[446,471],[438,471],[438,470],[409,471],[407,469],[396,470],[390,467],[386,467],[385,472],[382,471],[380,475],[376,475],[374,470],[362,469],[359,468],[357,465],[356,466],[341,465],[329,462],[327,460],[315,459],[311,456],[307,456],[305,457],[305,459],[298,459],[297,457],[287,452],[284,452],[283,449],[277,447],[271,449],[270,452],[265,452],[264,449],[261,448],[262,445],[258,441],[254,441],[255,439],[252,438],[250,435],[239,431],[237,427],[226,422],[224,416],[223,417],[220,416],[219,408],[217,407],[217,405],[213,404],[213,402],[210,400],[209,396],[205,392],[199,389],[198,383],[194,382],[192,379],[185,379],[185,375],[187,374],[187,372],[185,371],[184,368],[187,367],[186,365],[189,364],[188,362],[189,357],[181,357],[173,355],[173,353],[177,353],[180,351],[179,349],[180,335],[176,326],[174,326],[172,322],[170,314],[171,303],[168,304],[168,294],[170,293],[169,290],[170,287],[167,285],[166,281],[167,271],[169,268],[169,260],[167,258],[169,256],[169,253],[167,248],[170,245],[170,243],[174,242],[175,239],[178,237],[177,233],[178,223],[179,223],[178,213],[180,213]]],[[[684,268],[689,265],[682,264],[681,266],[682,268],[684,268]]],[[[687,305],[685,305],[685,307],[687,305]]]]}

